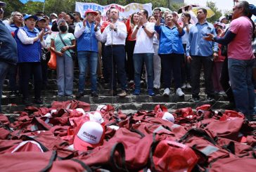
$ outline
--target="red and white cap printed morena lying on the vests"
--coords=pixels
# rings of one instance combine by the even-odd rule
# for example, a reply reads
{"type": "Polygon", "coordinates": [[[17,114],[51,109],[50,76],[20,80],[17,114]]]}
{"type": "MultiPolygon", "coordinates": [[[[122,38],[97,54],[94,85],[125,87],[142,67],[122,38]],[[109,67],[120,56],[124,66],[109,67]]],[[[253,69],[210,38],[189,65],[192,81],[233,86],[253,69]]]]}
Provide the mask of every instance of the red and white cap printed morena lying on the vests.
{"type": "Polygon", "coordinates": [[[88,147],[94,148],[102,145],[105,136],[105,128],[96,121],[85,121],[77,127],[75,132],[74,148],[75,150],[88,150],[88,147]]]}

